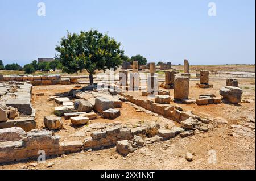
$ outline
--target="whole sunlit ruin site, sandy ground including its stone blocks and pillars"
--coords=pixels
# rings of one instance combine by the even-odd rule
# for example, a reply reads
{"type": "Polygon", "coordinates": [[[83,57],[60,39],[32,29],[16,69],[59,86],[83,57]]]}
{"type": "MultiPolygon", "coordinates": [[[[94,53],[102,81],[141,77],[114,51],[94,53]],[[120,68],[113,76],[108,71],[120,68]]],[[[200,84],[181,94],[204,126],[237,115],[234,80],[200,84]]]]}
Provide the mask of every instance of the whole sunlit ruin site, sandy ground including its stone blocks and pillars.
{"type": "Polygon", "coordinates": [[[255,169],[255,65],[184,62],[0,75],[1,169],[255,169]]]}

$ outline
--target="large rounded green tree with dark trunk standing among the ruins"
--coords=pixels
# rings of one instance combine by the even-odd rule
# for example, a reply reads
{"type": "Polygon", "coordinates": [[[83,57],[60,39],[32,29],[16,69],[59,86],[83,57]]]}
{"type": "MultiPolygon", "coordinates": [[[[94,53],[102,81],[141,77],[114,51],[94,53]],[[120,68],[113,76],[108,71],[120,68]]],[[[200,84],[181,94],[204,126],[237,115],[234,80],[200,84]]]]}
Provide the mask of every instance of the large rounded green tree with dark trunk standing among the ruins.
{"type": "Polygon", "coordinates": [[[123,50],[121,43],[102,34],[97,30],[80,33],[69,33],[63,37],[56,47],[63,65],[63,71],[77,73],[86,69],[90,84],[93,84],[93,74],[96,70],[117,68],[122,64],[123,50]]]}

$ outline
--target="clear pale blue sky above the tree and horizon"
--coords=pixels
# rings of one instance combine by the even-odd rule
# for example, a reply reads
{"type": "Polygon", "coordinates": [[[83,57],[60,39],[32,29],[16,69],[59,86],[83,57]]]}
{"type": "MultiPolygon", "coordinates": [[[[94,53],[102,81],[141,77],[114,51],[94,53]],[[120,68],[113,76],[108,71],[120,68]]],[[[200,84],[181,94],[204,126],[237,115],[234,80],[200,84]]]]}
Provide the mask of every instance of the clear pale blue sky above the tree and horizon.
{"type": "Polygon", "coordinates": [[[255,0],[0,0],[0,60],[55,56],[69,32],[97,29],[131,57],[183,64],[254,64],[255,0]],[[46,16],[38,16],[38,3],[46,16]],[[208,16],[215,2],[217,16],[208,16]]]}

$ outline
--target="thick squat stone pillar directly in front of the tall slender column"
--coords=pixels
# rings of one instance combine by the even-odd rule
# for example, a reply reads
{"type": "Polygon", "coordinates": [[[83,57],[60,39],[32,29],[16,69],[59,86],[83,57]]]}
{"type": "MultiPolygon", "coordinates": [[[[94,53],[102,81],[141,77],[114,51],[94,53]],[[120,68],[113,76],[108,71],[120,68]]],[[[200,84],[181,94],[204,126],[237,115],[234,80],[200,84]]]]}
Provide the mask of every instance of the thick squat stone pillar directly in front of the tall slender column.
{"type": "Polygon", "coordinates": [[[174,99],[188,99],[189,77],[175,77],[174,79],[174,99]]]}

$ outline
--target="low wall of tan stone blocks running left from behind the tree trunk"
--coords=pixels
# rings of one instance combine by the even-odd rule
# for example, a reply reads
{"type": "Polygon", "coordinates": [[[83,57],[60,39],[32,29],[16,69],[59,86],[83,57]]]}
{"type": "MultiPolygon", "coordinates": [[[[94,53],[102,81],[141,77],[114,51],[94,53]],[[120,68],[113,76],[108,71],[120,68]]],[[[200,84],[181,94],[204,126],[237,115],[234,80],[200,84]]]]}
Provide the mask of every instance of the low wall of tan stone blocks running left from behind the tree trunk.
{"type": "Polygon", "coordinates": [[[16,81],[30,82],[33,86],[38,85],[68,85],[77,83],[80,77],[67,77],[61,75],[5,75],[1,76],[0,82],[16,81]]]}

